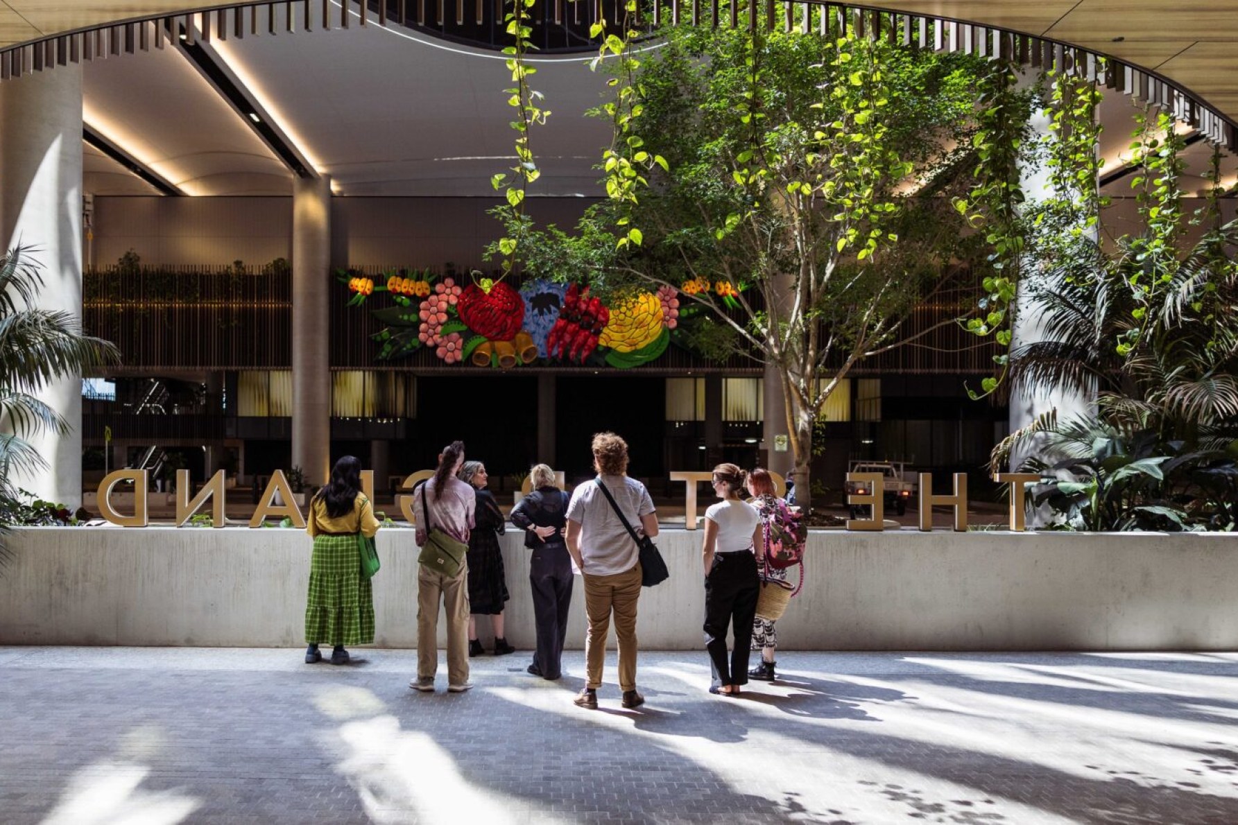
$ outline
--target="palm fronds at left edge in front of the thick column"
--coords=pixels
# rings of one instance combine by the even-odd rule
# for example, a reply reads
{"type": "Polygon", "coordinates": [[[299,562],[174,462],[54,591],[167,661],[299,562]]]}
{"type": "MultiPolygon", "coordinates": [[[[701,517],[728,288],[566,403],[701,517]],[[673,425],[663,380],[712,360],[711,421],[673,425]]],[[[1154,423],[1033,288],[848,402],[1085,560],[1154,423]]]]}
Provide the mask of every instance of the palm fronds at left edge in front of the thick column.
{"type": "MultiPolygon", "coordinates": [[[[64,435],[77,424],[40,401],[38,392],[120,360],[113,344],[84,335],[71,313],[35,306],[43,276],[33,251],[19,245],[0,256],[0,498],[7,502],[21,492],[12,474],[47,466],[31,437],[45,432],[64,435]]],[[[4,557],[0,545],[0,560],[4,557]]]]}

